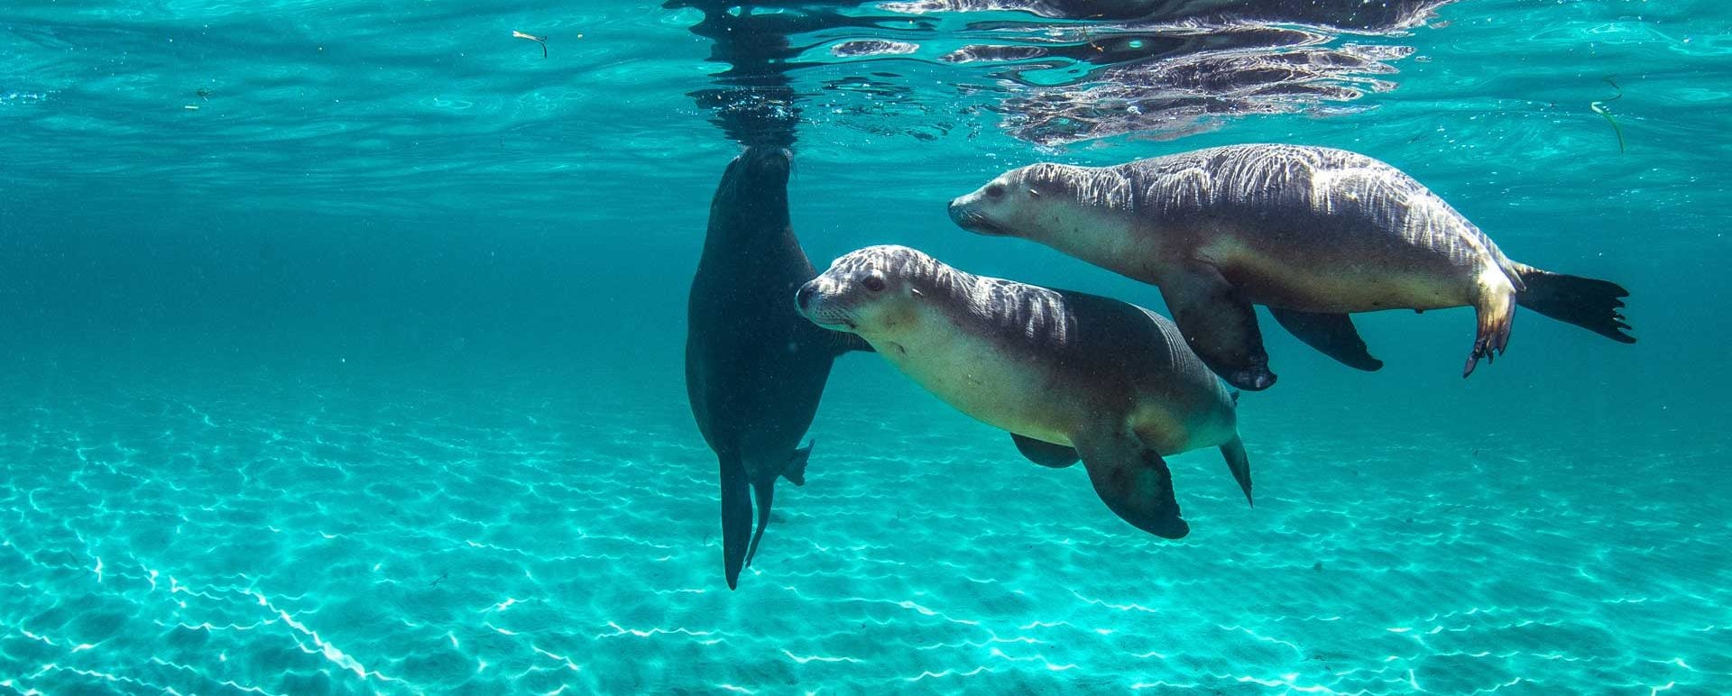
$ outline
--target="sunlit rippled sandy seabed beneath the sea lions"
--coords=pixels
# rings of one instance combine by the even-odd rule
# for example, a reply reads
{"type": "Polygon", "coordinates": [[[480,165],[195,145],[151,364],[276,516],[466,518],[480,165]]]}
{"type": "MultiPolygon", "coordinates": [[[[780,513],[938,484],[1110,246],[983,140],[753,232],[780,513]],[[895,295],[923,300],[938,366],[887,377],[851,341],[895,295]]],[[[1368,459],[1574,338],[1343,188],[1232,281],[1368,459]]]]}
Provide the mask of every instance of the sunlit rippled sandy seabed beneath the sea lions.
{"type": "Polygon", "coordinates": [[[1160,542],[1107,512],[1081,467],[1020,461],[889,377],[838,371],[809,483],[781,487],[738,592],[714,459],[667,384],[159,376],[16,395],[0,412],[0,687],[1732,679],[1725,452],[1632,459],[1517,433],[1493,454],[1391,422],[1282,426],[1271,407],[1247,412],[1256,509],[1214,454],[1178,457],[1193,533],[1160,542]]]}

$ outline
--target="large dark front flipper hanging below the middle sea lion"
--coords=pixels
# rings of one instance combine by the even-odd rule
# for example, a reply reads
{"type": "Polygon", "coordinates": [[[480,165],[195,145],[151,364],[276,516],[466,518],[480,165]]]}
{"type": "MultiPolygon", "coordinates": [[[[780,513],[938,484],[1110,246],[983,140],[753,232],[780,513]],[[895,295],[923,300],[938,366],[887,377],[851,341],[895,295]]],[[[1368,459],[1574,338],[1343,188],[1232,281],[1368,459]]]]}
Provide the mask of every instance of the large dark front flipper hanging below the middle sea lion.
{"type": "Polygon", "coordinates": [[[1155,537],[1185,538],[1190,533],[1190,525],[1179,519],[1173,474],[1160,454],[1129,433],[1091,435],[1076,445],[1095,493],[1114,514],[1155,537]]]}

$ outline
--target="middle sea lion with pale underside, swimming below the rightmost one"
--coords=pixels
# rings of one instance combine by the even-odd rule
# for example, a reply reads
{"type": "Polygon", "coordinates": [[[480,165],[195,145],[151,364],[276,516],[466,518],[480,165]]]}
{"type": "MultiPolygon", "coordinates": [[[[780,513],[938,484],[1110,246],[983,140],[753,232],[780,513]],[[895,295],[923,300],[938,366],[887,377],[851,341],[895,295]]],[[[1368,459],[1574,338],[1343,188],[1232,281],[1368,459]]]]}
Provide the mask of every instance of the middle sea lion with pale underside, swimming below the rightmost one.
{"type": "Polygon", "coordinates": [[[1031,461],[1077,459],[1119,518],[1166,538],[1190,532],[1162,455],[1219,447],[1251,500],[1235,395],[1145,308],[965,274],[904,246],[838,258],[795,296],[814,324],[878,355],[1031,461]]]}

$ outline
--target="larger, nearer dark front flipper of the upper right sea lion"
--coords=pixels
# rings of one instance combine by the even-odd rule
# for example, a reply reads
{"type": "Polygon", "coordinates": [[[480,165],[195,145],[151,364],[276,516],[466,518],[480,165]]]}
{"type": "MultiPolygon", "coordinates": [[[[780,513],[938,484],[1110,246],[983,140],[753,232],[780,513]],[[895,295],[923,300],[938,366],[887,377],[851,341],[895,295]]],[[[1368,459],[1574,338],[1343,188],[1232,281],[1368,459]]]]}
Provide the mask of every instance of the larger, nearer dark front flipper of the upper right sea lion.
{"type": "Polygon", "coordinates": [[[1233,293],[1219,270],[1193,263],[1162,282],[1160,296],[1173,310],[1185,343],[1221,379],[1247,391],[1275,384],[1270,353],[1263,350],[1263,332],[1257,331],[1257,312],[1233,293]]]}

